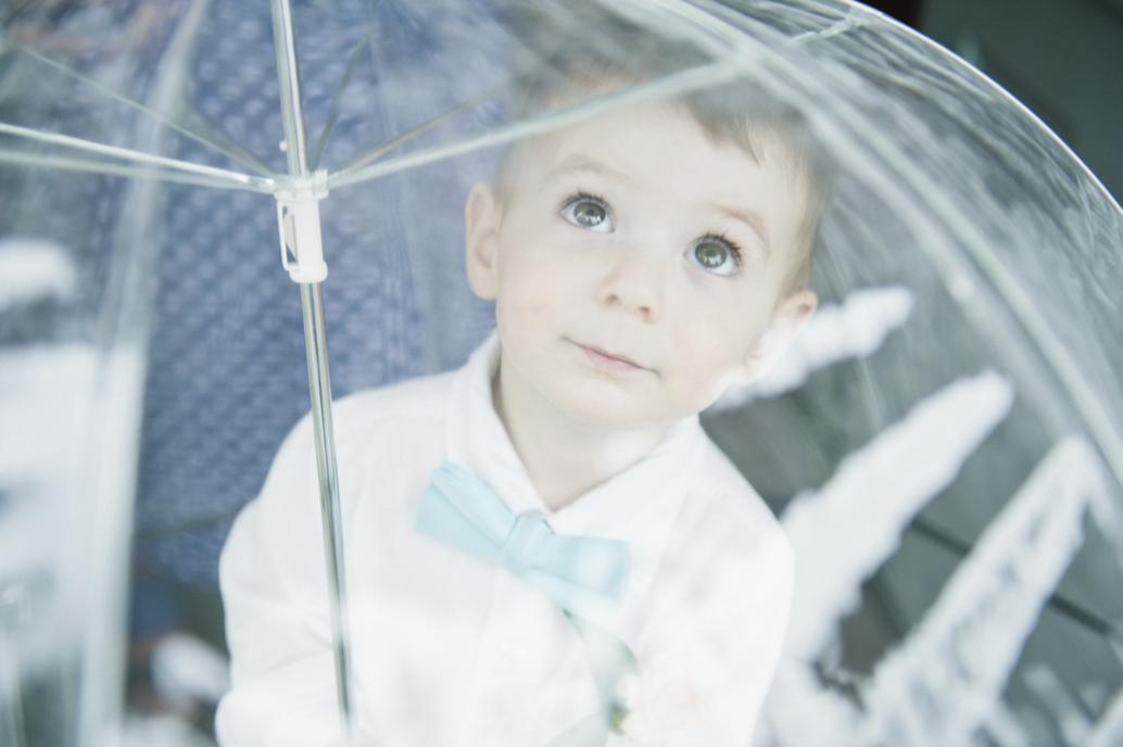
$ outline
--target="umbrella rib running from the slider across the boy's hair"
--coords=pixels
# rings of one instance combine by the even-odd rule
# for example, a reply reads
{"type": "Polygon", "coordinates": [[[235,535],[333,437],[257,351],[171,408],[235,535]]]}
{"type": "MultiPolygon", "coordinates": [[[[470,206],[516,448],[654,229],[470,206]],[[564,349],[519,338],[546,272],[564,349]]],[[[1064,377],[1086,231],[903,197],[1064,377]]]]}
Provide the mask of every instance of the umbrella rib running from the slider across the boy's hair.
{"type": "MultiPolygon", "coordinates": [[[[686,91],[712,85],[725,78],[732,78],[741,73],[741,67],[733,61],[722,60],[701,67],[675,73],[657,81],[637,85],[619,93],[613,93],[595,99],[592,103],[564,109],[560,112],[546,117],[537,117],[522,122],[515,122],[501,127],[491,133],[480,135],[432,148],[420,153],[410,153],[396,158],[374,163],[357,171],[339,171],[328,176],[329,189],[347,186],[359,182],[377,179],[387,174],[422,166],[424,164],[442,161],[453,156],[469,153],[472,151],[501,145],[510,140],[541,133],[553,131],[566,125],[581,121],[593,113],[613,109],[627,103],[647,101],[670,93],[683,93],[686,91]]],[[[427,125],[428,126],[428,125],[427,125]]]]}

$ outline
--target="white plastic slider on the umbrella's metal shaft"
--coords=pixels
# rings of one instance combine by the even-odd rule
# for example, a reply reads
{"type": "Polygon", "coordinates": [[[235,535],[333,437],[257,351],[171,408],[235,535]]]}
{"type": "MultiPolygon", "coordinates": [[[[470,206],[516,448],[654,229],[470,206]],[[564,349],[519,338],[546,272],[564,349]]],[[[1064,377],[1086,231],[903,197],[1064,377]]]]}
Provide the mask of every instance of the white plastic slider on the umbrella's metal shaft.
{"type": "Polygon", "coordinates": [[[279,181],[277,201],[281,264],[294,283],[322,283],[328,276],[320,231],[320,200],[328,195],[328,172],[279,181]]]}

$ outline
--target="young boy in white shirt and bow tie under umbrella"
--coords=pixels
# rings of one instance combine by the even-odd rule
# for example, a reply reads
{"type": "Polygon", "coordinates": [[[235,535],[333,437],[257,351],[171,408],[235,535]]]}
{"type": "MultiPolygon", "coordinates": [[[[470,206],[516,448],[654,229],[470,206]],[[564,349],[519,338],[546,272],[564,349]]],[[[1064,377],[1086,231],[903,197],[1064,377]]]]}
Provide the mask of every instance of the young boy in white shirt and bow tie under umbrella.
{"type": "MultiPolygon", "coordinates": [[[[697,413],[814,310],[820,188],[780,119],[707,101],[513,146],[465,209],[496,332],[460,371],[339,403],[369,744],[749,743],[792,558],[697,413]]],[[[223,552],[227,746],[338,738],[311,438],[287,438],[223,552]]]]}

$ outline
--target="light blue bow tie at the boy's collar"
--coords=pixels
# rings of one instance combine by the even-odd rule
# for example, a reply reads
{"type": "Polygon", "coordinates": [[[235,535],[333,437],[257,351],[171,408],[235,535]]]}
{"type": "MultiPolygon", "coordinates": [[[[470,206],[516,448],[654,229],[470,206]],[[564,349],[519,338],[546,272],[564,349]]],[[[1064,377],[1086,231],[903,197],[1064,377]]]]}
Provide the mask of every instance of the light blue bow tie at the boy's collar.
{"type": "Polygon", "coordinates": [[[590,594],[619,599],[624,591],[627,543],[555,534],[540,511],[515,514],[474,474],[450,462],[432,473],[417,529],[497,563],[564,610],[590,594]]]}

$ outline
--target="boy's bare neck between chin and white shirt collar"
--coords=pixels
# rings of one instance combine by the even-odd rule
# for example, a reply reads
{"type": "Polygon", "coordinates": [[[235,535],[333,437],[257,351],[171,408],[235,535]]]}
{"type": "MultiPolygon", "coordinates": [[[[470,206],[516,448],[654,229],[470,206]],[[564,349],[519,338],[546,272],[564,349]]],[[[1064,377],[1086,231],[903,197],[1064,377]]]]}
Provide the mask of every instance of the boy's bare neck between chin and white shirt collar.
{"type": "Polygon", "coordinates": [[[531,484],[553,511],[647,456],[670,425],[621,430],[566,417],[540,398],[492,376],[492,403],[531,484]]]}

